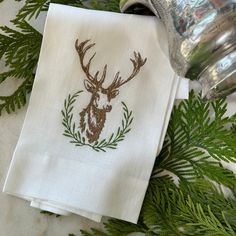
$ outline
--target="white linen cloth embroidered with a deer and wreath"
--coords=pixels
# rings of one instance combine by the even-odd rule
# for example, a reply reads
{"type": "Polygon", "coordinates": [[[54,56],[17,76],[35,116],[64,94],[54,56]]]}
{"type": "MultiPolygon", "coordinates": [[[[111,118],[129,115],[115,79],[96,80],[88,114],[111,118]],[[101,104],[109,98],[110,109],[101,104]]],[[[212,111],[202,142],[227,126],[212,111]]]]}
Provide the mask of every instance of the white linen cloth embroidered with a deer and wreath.
{"type": "Polygon", "coordinates": [[[136,223],[179,86],[160,37],[155,17],[51,4],[4,192],[136,223]]]}

